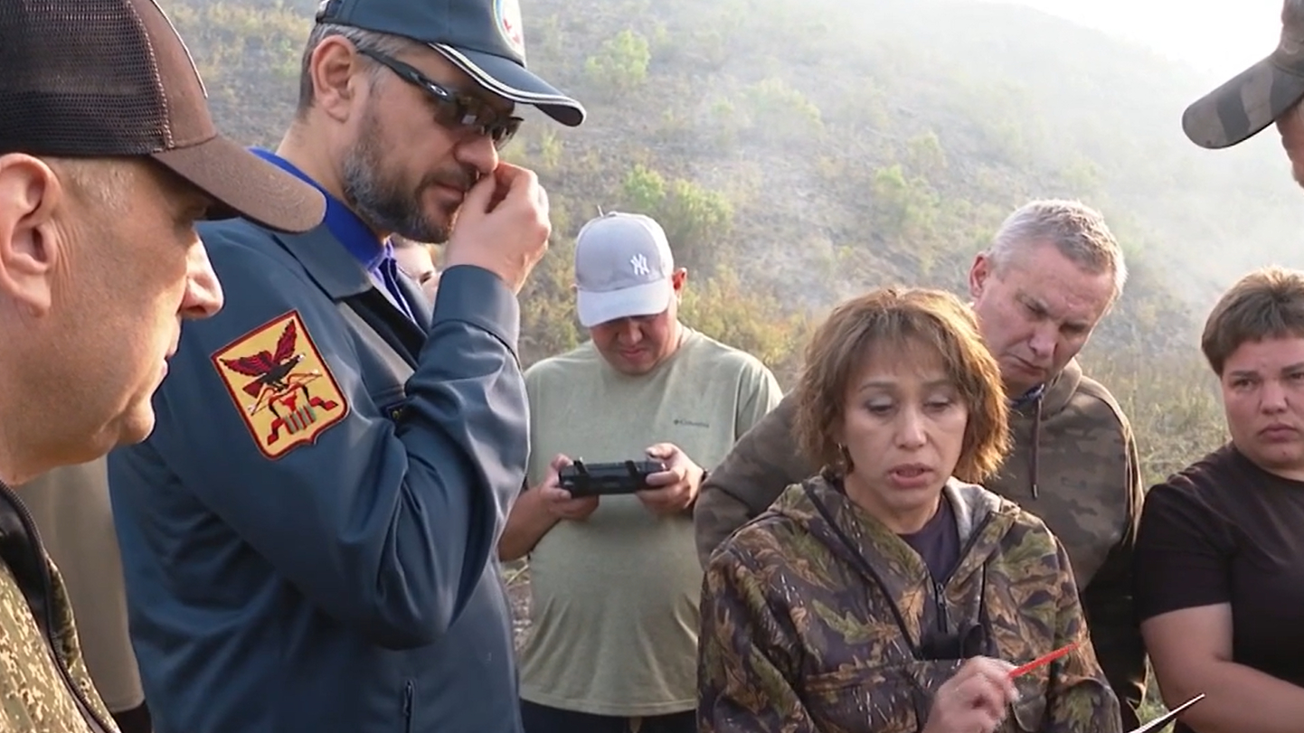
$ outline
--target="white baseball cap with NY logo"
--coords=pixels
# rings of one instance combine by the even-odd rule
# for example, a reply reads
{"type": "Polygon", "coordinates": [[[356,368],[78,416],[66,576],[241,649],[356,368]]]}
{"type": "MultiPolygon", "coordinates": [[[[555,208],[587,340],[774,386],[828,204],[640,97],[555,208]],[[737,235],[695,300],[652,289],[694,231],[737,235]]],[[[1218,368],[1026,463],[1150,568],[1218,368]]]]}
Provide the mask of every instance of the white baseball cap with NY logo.
{"type": "Polygon", "coordinates": [[[670,243],[651,217],[610,211],[591,219],[575,239],[580,325],[664,312],[674,297],[673,274],[670,243]]]}

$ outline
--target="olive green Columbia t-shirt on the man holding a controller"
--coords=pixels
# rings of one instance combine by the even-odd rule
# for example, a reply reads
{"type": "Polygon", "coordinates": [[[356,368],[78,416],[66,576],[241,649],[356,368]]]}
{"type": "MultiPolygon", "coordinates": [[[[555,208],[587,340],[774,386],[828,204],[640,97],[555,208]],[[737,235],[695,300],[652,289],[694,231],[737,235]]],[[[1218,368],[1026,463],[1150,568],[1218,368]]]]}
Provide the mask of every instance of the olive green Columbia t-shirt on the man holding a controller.
{"type": "MultiPolygon", "coordinates": [[[[659,442],[709,471],[782,398],[758,359],[689,329],[649,374],[621,374],[589,342],[531,366],[526,385],[532,486],[558,453],[642,460],[659,442]]],[[[696,707],[691,513],[656,516],[634,496],[602,497],[587,520],[559,522],[535,545],[529,582],[522,698],[630,717],[696,707]]]]}

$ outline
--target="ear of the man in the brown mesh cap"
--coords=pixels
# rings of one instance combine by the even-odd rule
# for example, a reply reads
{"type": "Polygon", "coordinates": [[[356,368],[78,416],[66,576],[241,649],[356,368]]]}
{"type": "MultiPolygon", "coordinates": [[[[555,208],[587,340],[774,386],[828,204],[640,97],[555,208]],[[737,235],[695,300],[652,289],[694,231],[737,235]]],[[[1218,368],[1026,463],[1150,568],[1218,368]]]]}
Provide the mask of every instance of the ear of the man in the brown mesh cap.
{"type": "Polygon", "coordinates": [[[64,197],[59,176],[43,160],[0,155],[0,293],[33,316],[50,310],[60,257],[55,211],[64,197]]]}

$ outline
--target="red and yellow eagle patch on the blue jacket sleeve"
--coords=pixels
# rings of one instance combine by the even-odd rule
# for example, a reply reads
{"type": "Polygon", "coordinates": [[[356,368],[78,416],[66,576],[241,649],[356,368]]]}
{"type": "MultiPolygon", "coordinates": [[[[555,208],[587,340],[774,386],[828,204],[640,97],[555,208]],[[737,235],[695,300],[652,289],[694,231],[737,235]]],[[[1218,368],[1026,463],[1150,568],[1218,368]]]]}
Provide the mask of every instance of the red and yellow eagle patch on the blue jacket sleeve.
{"type": "Polygon", "coordinates": [[[348,413],[348,400],[297,310],[258,326],[211,359],[267,458],[313,443],[348,413]]]}

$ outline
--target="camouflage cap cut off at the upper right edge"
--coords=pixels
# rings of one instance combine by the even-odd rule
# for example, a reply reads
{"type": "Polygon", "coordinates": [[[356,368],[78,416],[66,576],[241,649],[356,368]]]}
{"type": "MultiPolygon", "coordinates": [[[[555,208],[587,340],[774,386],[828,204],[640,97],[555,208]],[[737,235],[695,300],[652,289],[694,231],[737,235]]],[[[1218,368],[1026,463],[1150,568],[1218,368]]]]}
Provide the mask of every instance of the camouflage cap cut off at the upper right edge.
{"type": "Polygon", "coordinates": [[[1249,140],[1304,99],[1304,0],[1286,0],[1277,50],[1201,97],[1181,115],[1181,129],[1202,147],[1249,140]]]}

